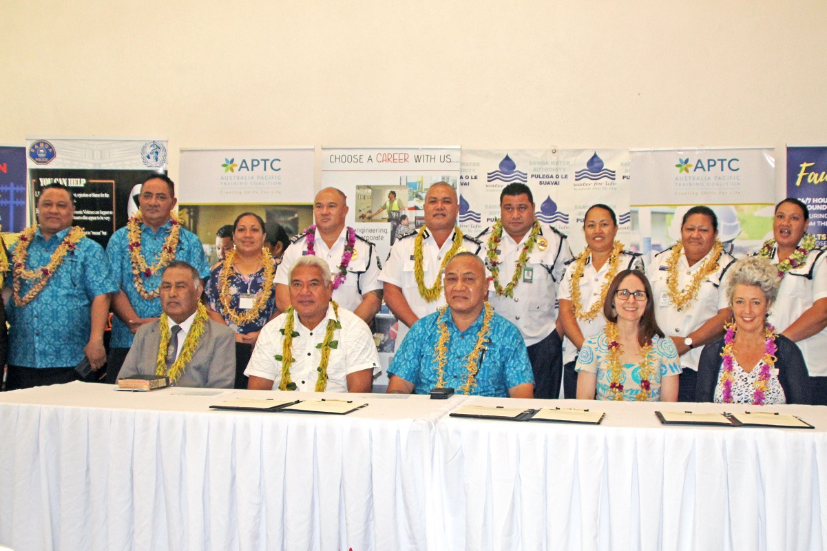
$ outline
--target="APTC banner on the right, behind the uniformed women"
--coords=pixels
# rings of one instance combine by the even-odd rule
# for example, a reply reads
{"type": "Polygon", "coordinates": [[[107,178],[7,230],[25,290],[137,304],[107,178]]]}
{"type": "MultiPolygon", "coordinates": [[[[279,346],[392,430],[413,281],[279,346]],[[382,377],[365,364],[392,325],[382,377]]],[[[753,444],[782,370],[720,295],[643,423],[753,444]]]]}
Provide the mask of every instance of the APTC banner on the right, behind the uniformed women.
{"type": "Polygon", "coordinates": [[[737,256],[772,237],[775,158],[772,148],[641,150],[631,153],[632,239],[650,260],[681,239],[683,215],[706,205],[718,238],[737,256]]]}

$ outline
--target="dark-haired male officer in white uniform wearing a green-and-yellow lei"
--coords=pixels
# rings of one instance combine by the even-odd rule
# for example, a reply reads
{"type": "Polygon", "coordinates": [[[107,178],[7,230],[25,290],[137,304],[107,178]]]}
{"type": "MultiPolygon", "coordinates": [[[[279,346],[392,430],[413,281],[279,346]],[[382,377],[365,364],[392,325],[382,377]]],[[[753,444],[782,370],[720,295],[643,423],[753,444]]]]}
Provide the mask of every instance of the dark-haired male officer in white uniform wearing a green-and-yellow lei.
{"type": "Polygon", "coordinates": [[[555,328],[555,303],[566,261],[571,260],[566,236],[534,217],[531,189],[514,183],[500,193],[500,220],[477,239],[493,276],[488,300],[497,314],[519,328],[528,347],[534,397],[557,398],[562,339],[555,328]]]}

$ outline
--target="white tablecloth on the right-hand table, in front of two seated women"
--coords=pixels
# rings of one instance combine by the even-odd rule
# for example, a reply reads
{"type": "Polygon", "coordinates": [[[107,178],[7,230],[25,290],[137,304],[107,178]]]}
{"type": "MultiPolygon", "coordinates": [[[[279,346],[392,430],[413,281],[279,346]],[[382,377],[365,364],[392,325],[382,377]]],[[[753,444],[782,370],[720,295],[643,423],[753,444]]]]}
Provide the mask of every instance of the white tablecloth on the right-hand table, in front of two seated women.
{"type": "MultiPolygon", "coordinates": [[[[665,427],[655,410],[759,410],[470,398],[580,407],[600,426],[445,417],[434,496],[444,549],[825,549],[827,408],[812,429],[665,427]]],[[[436,549],[436,548],[435,548],[436,549]]]]}

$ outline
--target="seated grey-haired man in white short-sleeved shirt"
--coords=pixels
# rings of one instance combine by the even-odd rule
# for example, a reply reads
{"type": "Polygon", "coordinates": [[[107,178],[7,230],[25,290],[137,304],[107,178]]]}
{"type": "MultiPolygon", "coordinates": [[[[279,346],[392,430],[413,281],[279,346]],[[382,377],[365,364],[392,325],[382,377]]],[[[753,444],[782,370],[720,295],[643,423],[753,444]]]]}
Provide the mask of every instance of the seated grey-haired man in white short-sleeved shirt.
{"type": "Polygon", "coordinates": [[[332,275],[318,256],[299,256],[290,304],[259,334],[244,374],[252,390],[370,392],[379,354],[370,328],[331,300],[332,275]]]}

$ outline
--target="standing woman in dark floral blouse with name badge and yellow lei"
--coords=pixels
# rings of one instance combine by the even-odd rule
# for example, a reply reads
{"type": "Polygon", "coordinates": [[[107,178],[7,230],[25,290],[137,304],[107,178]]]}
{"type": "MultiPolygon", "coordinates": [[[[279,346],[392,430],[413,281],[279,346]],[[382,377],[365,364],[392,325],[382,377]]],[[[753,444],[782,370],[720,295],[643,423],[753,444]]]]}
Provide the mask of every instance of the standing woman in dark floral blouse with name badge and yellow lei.
{"type": "Polygon", "coordinates": [[[232,224],[233,250],[213,266],[206,296],[210,318],[236,332],[236,388],[246,388],[244,370],[265,323],[275,317],[275,262],[264,247],[264,220],[242,213],[232,224]]]}

